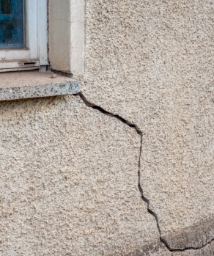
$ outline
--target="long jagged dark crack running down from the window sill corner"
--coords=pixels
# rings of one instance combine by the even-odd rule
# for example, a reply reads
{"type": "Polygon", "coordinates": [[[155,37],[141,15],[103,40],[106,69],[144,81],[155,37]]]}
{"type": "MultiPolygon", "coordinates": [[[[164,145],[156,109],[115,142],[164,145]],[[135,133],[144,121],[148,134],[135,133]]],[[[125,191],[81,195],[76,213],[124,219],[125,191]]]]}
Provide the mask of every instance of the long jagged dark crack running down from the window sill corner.
{"type": "Polygon", "coordinates": [[[83,102],[85,103],[86,106],[91,107],[92,109],[97,109],[97,111],[100,111],[103,114],[106,114],[106,115],[108,115],[110,117],[114,117],[117,120],[120,120],[125,125],[128,125],[131,128],[134,128],[136,130],[137,134],[139,134],[139,136],[141,136],[141,146],[140,146],[140,154],[139,154],[139,172],[138,172],[138,175],[139,175],[139,184],[138,184],[139,191],[141,193],[141,199],[144,202],[147,203],[147,211],[148,211],[148,213],[150,213],[155,218],[155,221],[156,221],[156,224],[157,224],[157,228],[158,228],[158,232],[159,232],[159,235],[160,235],[160,241],[161,241],[161,243],[164,246],[166,246],[166,249],[168,249],[170,252],[185,252],[185,251],[188,251],[188,250],[199,250],[199,249],[204,248],[208,244],[210,244],[212,241],[214,241],[214,238],[213,238],[207,244],[205,244],[204,246],[198,247],[198,248],[193,248],[193,247],[186,247],[185,249],[171,249],[170,248],[170,246],[167,243],[167,241],[164,238],[162,238],[162,236],[161,236],[161,228],[160,228],[160,225],[159,225],[158,216],[157,216],[156,213],[154,213],[153,211],[150,210],[150,200],[148,200],[147,197],[144,196],[144,191],[141,188],[141,183],[140,183],[140,181],[141,181],[141,172],[140,172],[140,170],[141,170],[141,154],[142,154],[142,145],[143,145],[143,134],[142,134],[140,128],[137,125],[129,122],[128,120],[125,120],[124,118],[120,117],[119,115],[112,114],[111,112],[108,112],[105,109],[102,109],[100,106],[97,106],[95,103],[90,103],[89,100],[86,99],[86,97],[83,95],[82,92],[78,92],[78,94],[76,94],[76,95],[78,95],[81,98],[81,100],[83,100],[83,102]]]}

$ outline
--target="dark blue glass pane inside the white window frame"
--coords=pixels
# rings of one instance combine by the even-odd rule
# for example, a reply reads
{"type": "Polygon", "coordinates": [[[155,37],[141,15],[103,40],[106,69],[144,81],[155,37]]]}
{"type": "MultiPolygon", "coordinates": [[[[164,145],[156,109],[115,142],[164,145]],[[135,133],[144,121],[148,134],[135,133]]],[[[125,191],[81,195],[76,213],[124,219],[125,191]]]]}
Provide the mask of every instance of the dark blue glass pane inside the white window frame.
{"type": "Polygon", "coordinates": [[[0,49],[25,48],[25,0],[0,0],[0,49]]]}

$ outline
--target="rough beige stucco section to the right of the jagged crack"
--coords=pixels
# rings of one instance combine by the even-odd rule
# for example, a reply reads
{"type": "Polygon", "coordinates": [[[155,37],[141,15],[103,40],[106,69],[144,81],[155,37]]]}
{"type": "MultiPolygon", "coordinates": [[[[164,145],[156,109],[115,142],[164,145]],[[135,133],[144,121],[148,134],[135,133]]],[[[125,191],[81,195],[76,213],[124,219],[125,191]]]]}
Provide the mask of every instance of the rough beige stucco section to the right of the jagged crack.
{"type": "Polygon", "coordinates": [[[197,231],[214,213],[213,21],[213,0],[86,0],[82,92],[141,129],[141,188],[171,249],[214,238],[197,231]]]}

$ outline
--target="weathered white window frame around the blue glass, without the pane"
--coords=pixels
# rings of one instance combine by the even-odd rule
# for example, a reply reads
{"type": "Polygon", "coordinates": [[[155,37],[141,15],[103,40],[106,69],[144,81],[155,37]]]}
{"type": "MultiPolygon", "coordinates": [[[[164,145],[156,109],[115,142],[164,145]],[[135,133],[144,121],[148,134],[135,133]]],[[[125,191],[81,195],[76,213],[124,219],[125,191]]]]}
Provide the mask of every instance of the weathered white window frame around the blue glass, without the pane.
{"type": "Polygon", "coordinates": [[[48,63],[47,0],[26,0],[26,48],[0,49],[0,72],[40,69],[48,63]]]}

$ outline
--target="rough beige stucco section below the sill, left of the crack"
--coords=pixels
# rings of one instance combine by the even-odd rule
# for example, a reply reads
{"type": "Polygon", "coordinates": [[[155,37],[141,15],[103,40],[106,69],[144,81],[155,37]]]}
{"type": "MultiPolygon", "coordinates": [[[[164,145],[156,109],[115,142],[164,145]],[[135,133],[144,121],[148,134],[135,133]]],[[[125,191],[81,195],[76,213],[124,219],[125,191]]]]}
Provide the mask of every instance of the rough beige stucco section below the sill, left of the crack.
{"type": "Polygon", "coordinates": [[[78,96],[0,103],[0,255],[121,255],[159,241],[140,136],[78,96]]]}

